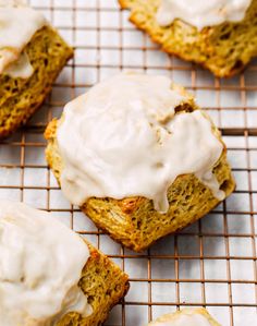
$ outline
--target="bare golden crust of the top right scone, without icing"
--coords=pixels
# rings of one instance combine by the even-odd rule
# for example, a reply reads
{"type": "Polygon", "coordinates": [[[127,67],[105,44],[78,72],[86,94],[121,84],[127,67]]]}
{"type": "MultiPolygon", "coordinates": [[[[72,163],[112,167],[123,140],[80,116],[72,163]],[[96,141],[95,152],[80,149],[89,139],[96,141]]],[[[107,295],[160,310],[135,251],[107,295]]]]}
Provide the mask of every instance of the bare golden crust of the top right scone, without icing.
{"type": "Polygon", "coordinates": [[[253,0],[240,23],[223,23],[198,32],[176,20],[161,27],[156,21],[160,0],[119,0],[122,9],[131,10],[130,20],[147,32],[162,50],[181,59],[196,62],[219,77],[242,71],[257,56],[257,0],[253,0]]]}

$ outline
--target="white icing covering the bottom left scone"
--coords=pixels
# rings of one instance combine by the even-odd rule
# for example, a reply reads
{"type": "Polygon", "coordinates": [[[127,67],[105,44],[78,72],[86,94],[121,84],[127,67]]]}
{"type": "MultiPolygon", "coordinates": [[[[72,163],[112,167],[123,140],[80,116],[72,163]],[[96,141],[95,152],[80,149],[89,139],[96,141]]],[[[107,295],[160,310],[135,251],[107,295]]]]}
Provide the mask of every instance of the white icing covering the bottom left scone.
{"type": "Polygon", "coordinates": [[[65,312],[91,313],[77,283],[89,257],[49,213],[0,201],[0,326],[52,326],[65,312]]]}

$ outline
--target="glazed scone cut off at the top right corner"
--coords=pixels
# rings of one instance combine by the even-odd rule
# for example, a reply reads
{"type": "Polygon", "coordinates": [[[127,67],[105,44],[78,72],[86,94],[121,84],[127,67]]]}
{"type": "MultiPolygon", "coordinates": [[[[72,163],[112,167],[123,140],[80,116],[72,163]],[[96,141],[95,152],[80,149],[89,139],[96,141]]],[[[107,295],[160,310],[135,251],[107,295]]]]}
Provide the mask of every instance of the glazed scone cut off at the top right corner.
{"type": "Polygon", "coordinates": [[[257,55],[256,0],[119,0],[162,49],[230,77],[257,55]]]}

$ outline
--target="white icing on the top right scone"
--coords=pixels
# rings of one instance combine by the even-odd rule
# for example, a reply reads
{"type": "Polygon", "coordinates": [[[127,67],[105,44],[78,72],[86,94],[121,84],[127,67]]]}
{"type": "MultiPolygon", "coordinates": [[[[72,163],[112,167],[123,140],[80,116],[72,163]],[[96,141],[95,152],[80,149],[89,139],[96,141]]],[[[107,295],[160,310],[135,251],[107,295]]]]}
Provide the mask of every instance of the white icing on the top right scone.
{"type": "Polygon", "coordinates": [[[157,21],[161,26],[180,19],[198,29],[244,19],[252,0],[161,0],[157,21]]]}

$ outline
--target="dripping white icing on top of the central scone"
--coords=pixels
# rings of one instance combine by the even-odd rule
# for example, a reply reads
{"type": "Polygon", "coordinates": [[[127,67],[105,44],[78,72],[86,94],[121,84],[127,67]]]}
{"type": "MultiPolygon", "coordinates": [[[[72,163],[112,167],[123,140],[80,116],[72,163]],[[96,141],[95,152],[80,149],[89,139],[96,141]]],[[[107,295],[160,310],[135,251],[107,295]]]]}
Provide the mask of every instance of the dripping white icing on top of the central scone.
{"type": "Polygon", "coordinates": [[[223,145],[201,111],[174,116],[183,100],[168,77],[120,74],[68,104],[57,132],[64,195],[75,205],[138,195],[164,213],[168,188],[195,173],[222,200],[211,171],[223,145]]]}

